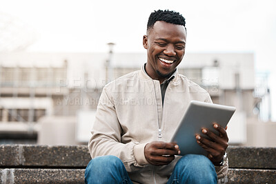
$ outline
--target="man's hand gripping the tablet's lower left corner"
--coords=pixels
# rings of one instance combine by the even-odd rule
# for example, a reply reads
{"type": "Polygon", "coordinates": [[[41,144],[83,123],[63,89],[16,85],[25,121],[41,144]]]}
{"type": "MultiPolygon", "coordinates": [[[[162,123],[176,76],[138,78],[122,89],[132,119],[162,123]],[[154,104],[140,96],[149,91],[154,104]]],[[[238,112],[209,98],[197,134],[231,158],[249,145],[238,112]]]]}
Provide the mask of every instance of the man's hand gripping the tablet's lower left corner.
{"type": "Polygon", "coordinates": [[[175,143],[154,141],[148,143],[144,150],[146,160],[152,165],[167,165],[180,154],[179,146],[175,143]]]}

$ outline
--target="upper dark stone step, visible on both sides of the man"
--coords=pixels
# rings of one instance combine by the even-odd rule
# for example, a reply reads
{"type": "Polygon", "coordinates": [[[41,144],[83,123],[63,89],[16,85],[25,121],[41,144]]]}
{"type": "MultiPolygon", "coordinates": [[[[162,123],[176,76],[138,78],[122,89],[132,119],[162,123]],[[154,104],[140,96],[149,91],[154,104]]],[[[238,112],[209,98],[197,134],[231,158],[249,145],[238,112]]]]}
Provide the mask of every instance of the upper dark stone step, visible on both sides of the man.
{"type": "MultiPolygon", "coordinates": [[[[276,147],[227,149],[230,168],[276,170],[276,147]]],[[[91,157],[86,145],[0,145],[0,167],[86,168],[91,157]]]]}

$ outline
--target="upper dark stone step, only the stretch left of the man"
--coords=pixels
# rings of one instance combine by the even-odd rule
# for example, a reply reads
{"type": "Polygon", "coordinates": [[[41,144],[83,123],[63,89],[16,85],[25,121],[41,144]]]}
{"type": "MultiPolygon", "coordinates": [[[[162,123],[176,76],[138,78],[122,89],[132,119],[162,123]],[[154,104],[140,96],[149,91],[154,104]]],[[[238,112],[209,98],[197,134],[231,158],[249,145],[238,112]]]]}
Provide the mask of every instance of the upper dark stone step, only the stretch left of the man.
{"type": "Polygon", "coordinates": [[[83,167],[91,157],[86,145],[0,145],[1,167],[83,167]]]}

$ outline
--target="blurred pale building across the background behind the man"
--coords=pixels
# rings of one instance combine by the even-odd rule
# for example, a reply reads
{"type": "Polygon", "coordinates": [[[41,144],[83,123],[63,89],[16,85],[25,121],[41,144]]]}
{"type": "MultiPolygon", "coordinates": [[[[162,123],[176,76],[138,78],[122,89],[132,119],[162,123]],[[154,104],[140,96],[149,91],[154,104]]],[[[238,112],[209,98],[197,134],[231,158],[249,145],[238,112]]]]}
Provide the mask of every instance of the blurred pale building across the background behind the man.
{"type": "MultiPolygon", "coordinates": [[[[103,86],[145,62],[146,53],[1,53],[0,143],[85,143],[103,86]]],[[[256,91],[253,53],[186,54],[178,69],[214,103],[237,108],[230,143],[256,145],[248,125],[260,123],[269,89],[256,91]]]]}

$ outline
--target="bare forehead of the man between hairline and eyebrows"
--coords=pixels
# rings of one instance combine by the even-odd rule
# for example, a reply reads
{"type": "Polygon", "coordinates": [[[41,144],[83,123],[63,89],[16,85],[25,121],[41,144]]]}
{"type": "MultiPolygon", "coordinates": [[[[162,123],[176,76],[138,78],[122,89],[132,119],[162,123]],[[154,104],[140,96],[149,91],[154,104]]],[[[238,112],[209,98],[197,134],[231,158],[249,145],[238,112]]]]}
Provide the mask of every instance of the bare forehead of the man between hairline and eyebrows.
{"type": "Polygon", "coordinates": [[[186,41],[186,30],[184,25],[176,25],[173,23],[167,23],[165,21],[157,21],[153,28],[148,32],[149,37],[155,39],[181,39],[186,41]]]}

